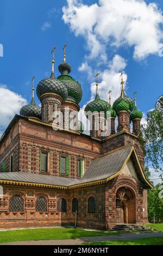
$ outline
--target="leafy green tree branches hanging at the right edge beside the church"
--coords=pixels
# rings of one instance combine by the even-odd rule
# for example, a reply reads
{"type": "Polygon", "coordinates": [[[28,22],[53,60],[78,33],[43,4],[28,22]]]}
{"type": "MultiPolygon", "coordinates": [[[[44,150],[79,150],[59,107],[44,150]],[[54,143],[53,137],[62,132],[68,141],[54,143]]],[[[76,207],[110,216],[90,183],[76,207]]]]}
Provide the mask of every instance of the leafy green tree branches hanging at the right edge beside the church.
{"type": "Polygon", "coordinates": [[[147,115],[147,125],[142,126],[142,133],[147,140],[146,160],[152,162],[155,170],[163,166],[163,96],[156,102],[155,108],[147,115]]]}

